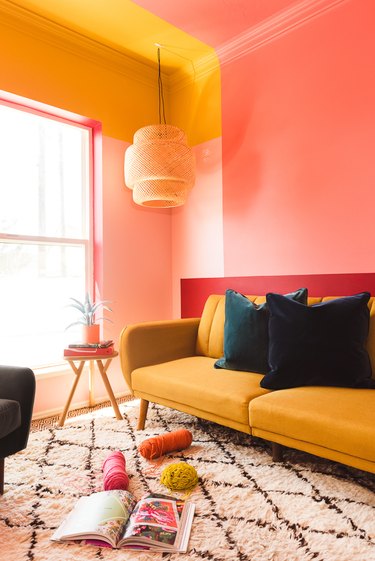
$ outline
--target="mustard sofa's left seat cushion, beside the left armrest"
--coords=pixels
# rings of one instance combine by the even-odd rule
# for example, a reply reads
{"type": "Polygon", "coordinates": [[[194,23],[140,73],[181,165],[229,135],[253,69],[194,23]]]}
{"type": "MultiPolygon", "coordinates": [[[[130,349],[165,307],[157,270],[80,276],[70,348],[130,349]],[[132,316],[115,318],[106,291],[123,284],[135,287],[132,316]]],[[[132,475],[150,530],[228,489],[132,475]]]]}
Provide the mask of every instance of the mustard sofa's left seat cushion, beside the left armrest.
{"type": "Polygon", "coordinates": [[[133,370],[132,388],[201,411],[249,424],[249,402],[268,393],[261,374],[217,370],[214,358],[193,356],[133,370]]]}

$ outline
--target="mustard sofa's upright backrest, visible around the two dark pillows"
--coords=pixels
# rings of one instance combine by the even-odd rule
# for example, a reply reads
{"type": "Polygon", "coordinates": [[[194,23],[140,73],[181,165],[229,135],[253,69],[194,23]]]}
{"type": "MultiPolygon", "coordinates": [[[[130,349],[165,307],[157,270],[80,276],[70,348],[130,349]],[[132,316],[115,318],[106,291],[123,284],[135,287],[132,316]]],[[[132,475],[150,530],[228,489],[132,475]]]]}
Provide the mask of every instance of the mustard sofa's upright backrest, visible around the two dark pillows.
{"type": "MultiPolygon", "coordinates": [[[[263,304],[265,296],[246,295],[255,304],[263,304]]],[[[317,304],[326,300],[333,300],[337,296],[310,297],[308,304],[317,304]]],[[[375,298],[369,300],[370,329],[367,338],[367,351],[372,366],[372,376],[375,378],[375,298]]],[[[204,305],[201,321],[198,328],[196,353],[211,358],[220,358],[224,354],[224,321],[225,321],[225,295],[211,294],[204,305]]]]}

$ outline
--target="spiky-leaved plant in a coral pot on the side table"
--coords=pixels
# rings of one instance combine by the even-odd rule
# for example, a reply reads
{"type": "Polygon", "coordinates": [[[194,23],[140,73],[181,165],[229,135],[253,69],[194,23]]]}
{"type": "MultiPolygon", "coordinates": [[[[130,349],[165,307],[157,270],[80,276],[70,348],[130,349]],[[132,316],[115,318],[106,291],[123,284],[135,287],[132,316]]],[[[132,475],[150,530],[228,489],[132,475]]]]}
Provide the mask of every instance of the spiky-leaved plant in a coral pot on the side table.
{"type": "MultiPolygon", "coordinates": [[[[71,306],[80,312],[80,317],[77,321],[69,324],[66,329],[72,327],[73,325],[82,325],[82,343],[90,344],[90,343],[100,343],[100,325],[96,323],[95,314],[97,313],[99,308],[103,310],[108,310],[112,312],[112,308],[110,308],[107,304],[109,300],[99,300],[98,302],[94,302],[88,292],[86,292],[84,302],[80,302],[76,298],[70,298],[72,300],[71,306]]],[[[101,317],[98,319],[105,319],[106,321],[111,321],[108,318],[101,317]]]]}

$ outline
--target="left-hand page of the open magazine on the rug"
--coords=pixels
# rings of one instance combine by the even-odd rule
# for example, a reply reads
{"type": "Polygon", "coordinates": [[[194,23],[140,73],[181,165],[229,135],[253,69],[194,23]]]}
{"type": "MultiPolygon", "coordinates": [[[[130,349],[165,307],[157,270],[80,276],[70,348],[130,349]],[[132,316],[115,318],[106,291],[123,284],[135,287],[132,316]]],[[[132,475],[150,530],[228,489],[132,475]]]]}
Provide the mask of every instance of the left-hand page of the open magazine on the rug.
{"type": "Polygon", "coordinates": [[[100,539],[115,547],[135,503],[131,493],[121,490],[81,497],[52,539],[100,539]]]}

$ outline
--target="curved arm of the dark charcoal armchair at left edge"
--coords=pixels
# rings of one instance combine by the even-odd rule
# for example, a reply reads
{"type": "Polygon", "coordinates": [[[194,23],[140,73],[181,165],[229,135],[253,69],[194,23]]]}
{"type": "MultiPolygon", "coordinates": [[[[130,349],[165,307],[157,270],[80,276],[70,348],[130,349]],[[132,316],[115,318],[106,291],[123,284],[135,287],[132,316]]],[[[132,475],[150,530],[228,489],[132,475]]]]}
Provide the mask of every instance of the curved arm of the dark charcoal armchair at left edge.
{"type": "Polygon", "coordinates": [[[0,397],[18,401],[21,426],[0,441],[0,458],[22,450],[29,438],[35,397],[35,375],[30,368],[0,365],[0,397]]]}

